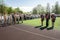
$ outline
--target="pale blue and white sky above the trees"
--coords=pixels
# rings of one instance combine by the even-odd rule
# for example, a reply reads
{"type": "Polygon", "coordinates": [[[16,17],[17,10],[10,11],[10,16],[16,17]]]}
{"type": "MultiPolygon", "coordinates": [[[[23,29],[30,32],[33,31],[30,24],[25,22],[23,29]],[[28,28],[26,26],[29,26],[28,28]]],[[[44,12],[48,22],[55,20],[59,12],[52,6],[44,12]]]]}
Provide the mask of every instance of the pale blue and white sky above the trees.
{"type": "Polygon", "coordinates": [[[32,9],[38,4],[46,6],[47,3],[49,3],[50,6],[52,6],[55,4],[56,1],[58,1],[60,4],[60,0],[4,0],[7,6],[13,8],[19,7],[24,12],[32,11],[32,9]]]}

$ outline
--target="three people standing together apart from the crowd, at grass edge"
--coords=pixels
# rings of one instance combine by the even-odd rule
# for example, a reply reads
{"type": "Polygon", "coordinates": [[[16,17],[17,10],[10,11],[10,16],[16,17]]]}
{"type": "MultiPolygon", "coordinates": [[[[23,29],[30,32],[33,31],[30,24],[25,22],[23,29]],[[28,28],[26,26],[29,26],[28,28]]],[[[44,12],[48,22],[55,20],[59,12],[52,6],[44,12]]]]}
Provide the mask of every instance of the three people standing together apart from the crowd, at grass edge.
{"type": "Polygon", "coordinates": [[[46,13],[45,15],[41,14],[41,28],[40,29],[44,29],[44,28],[53,29],[55,20],[56,20],[56,15],[54,13],[52,13],[52,14],[51,13],[46,13]],[[48,28],[50,17],[51,17],[52,27],[48,28]],[[44,22],[44,18],[46,19],[46,26],[42,27],[43,22],[44,22]]]}

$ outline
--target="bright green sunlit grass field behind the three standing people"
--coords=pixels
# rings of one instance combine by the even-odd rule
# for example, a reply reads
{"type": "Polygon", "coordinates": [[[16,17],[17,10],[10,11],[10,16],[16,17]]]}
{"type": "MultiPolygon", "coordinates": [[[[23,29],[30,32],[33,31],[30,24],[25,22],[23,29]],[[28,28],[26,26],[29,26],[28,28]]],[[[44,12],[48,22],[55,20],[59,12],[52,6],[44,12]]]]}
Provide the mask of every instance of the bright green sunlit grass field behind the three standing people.
{"type": "MultiPolygon", "coordinates": [[[[31,26],[40,26],[41,25],[41,21],[40,21],[40,19],[32,19],[32,20],[24,21],[23,24],[31,25],[31,26]]],[[[46,24],[46,20],[44,21],[44,26],[45,26],[45,24],[46,24]]],[[[51,20],[49,21],[49,27],[51,27],[51,20]]],[[[60,17],[56,18],[54,29],[60,30],[60,17]]]]}

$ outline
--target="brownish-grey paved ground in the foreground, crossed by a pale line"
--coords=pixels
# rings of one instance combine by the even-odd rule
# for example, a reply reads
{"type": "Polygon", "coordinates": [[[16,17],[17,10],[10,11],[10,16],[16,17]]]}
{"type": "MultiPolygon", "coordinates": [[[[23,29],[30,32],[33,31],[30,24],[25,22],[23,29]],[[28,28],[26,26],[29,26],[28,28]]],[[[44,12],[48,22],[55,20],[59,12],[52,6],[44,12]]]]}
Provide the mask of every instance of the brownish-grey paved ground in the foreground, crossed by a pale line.
{"type": "Polygon", "coordinates": [[[0,40],[60,40],[60,31],[17,24],[0,27],[0,40]]]}

